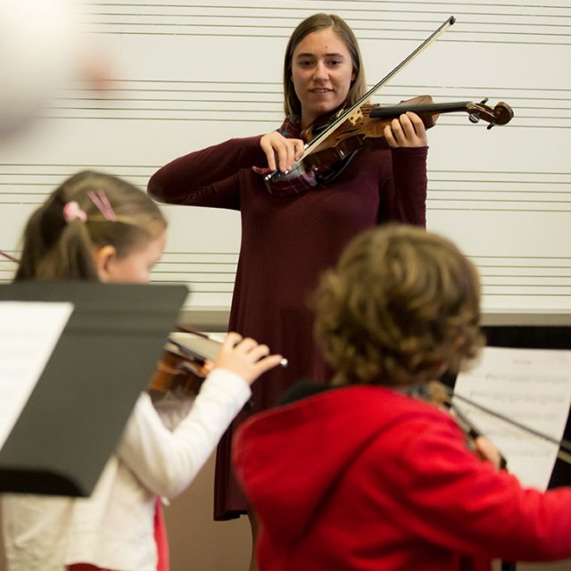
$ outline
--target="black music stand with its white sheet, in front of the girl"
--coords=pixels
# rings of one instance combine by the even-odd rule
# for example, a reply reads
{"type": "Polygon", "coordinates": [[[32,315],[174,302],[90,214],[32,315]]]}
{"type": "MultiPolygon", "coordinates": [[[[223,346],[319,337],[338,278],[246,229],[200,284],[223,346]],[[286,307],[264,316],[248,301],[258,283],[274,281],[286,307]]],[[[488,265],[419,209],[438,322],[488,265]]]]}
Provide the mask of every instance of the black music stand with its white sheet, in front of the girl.
{"type": "Polygon", "coordinates": [[[87,496],[186,285],[0,285],[0,492],[87,496]]]}

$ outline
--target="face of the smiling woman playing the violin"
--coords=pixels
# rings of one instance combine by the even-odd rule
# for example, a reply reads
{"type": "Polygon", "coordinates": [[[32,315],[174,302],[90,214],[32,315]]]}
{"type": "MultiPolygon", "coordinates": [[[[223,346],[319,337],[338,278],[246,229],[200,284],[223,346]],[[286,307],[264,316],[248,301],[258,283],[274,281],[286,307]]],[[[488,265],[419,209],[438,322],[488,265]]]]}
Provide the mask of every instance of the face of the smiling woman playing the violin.
{"type": "Polygon", "coordinates": [[[304,37],[292,57],[292,81],[302,103],[302,128],[339,107],[353,79],[351,54],[333,28],[304,37]]]}

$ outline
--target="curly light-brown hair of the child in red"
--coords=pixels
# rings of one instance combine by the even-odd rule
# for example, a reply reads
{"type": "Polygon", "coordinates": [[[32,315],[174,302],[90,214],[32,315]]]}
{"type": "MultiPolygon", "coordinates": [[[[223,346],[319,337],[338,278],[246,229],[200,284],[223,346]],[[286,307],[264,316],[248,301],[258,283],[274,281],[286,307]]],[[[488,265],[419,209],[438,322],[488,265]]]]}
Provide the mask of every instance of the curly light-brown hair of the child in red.
{"type": "Polygon", "coordinates": [[[401,385],[458,372],[484,344],[476,268],[442,236],[368,230],[321,278],[315,330],[343,384],[401,385]]]}

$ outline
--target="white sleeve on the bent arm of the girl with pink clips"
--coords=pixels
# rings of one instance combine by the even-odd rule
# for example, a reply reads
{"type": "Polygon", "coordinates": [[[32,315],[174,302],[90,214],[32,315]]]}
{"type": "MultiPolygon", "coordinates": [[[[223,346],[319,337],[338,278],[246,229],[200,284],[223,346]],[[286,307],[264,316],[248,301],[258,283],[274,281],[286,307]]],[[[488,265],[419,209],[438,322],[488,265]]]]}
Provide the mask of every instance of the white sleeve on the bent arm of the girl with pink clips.
{"type": "Polygon", "coordinates": [[[147,489],[172,498],[194,480],[250,395],[242,377],[215,369],[186,418],[170,432],[150,397],[143,394],[129,418],[118,456],[147,489]]]}

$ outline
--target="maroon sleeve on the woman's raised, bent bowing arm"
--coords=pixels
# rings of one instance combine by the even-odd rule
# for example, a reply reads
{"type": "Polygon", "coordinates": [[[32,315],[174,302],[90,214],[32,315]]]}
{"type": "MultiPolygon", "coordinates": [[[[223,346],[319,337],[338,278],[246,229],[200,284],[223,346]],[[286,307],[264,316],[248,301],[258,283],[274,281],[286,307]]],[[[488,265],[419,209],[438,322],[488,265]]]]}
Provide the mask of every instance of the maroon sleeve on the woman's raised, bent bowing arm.
{"type": "Polygon", "coordinates": [[[161,203],[237,210],[236,173],[266,162],[260,139],[261,136],[229,139],[179,157],[153,174],[148,193],[161,203]]]}

